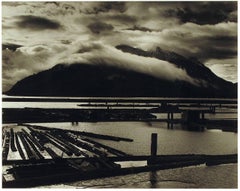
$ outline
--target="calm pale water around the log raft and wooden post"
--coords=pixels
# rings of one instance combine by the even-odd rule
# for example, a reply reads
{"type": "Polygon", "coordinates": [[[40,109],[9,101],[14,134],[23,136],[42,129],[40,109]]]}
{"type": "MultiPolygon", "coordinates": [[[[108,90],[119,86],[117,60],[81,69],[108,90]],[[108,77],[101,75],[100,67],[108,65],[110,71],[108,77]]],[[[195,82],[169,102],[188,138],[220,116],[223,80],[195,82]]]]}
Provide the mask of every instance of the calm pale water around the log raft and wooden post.
{"type": "MultiPolygon", "coordinates": [[[[46,102],[5,102],[3,108],[79,108],[80,103],[46,102]]],[[[237,114],[228,114],[236,117],[237,114]]],[[[226,116],[229,118],[229,116],[226,116]]],[[[177,116],[176,116],[177,117],[177,116]]],[[[218,118],[219,115],[210,116],[218,118]]],[[[180,126],[167,129],[160,122],[97,122],[79,123],[38,123],[48,127],[73,129],[105,135],[134,139],[133,142],[114,142],[95,139],[133,155],[150,154],[151,134],[158,134],[157,154],[233,154],[237,153],[237,133],[220,130],[193,132],[180,126]]],[[[134,164],[133,164],[134,165],[134,164]]],[[[44,186],[46,187],[46,186],[44,186]]],[[[206,167],[205,165],[144,172],[133,175],[77,181],[71,184],[47,186],[48,188],[237,188],[237,164],[206,167]]]]}

